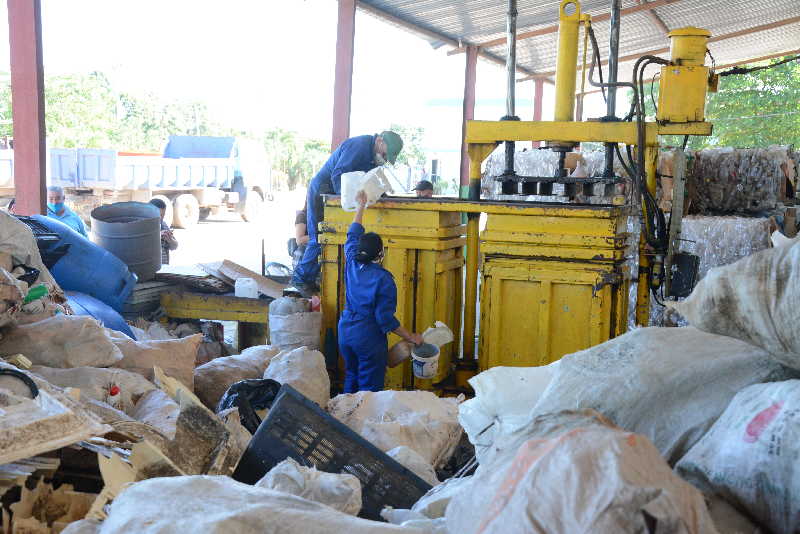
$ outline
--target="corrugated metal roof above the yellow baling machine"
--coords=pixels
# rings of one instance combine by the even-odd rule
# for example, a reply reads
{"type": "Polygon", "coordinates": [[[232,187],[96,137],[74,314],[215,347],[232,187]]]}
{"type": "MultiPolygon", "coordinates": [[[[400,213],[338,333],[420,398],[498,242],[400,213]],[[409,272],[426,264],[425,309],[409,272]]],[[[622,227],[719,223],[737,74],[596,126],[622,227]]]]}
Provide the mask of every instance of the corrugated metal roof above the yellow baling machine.
{"type": "MultiPolygon", "coordinates": [[[[505,39],[505,0],[358,0],[359,4],[386,13],[411,27],[424,28],[445,37],[448,44],[482,44],[505,39]]],[[[644,0],[642,0],[644,2],[644,0]]],[[[517,7],[518,33],[558,23],[558,0],[521,1],[517,7]]],[[[623,10],[638,6],[640,0],[622,0],[623,10]]],[[[586,0],[584,12],[593,16],[608,13],[610,0],[586,0]]],[[[711,31],[713,37],[764,25],[777,25],[757,32],[724,38],[709,44],[718,65],[769,56],[800,49],[800,1],[798,0],[672,0],[652,10],[673,30],[698,26],[711,31]],[[796,22],[785,24],[795,19],[796,22]]],[[[380,16],[380,15],[379,15],[380,16]]],[[[397,20],[395,22],[397,22],[397,20]]],[[[601,56],[608,55],[609,21],[593,23],[601,56]]],[[[426,35],[432,43],[435,39],[426,35]]],[[[518,41],[517,61],[520,68],[535,73],[555,70],[558,36],[556,33],[518,41]]],[[[620,56],[641,55],[669,47],[663,29],[649,12],[639,11],[621,18],[620,56]]],[[[505,42],[482,48],[497,58],[505,57],[505,42]]],[[[665,53],[659,55],[667,56],[665,53]]],[[[620,64],[620,79],[630,78],[633,60],[620,64]]],[[[655,69],[654,69],[655,70],[655,69]]]]}

